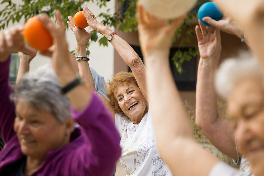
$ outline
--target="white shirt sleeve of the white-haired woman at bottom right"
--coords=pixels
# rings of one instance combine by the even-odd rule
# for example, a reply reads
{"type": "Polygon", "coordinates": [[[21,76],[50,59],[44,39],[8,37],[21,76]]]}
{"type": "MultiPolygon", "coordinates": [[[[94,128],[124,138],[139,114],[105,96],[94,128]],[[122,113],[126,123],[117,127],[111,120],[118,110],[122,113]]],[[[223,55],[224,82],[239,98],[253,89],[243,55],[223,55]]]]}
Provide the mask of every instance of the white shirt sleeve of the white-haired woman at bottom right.
{"type": "MultiPolygon", "coordinates": [[[[231,166],[223,163],[223,162],[218,162],[217,164],[214,165],[214,167],[211,169],[210,173],[208,176],[242,176],[242,174],[232,168],[231,166]]],[[[254,175],[251,175],[254,176],[254,175]]]]}

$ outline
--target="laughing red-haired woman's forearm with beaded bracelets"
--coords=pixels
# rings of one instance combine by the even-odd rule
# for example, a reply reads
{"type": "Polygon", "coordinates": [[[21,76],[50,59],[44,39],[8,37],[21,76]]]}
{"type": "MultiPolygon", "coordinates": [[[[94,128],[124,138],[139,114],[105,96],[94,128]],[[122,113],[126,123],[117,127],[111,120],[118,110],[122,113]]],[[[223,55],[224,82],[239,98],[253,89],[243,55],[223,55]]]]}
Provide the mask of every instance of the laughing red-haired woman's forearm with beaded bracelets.
{"type": "MultiPolygon", "coordinates": [[[[86,54],[86,46],[78,46],[76,47],[77,55],[78,56],[85,56],[86,54]]],[[[88,86],[91,90],[95,90],[95,84],[93,80],[93,75],[91,73],[89,62],[80,60],[78,61],[78,68],[80,76],[85,80],[85,85],[88,86]]]]}

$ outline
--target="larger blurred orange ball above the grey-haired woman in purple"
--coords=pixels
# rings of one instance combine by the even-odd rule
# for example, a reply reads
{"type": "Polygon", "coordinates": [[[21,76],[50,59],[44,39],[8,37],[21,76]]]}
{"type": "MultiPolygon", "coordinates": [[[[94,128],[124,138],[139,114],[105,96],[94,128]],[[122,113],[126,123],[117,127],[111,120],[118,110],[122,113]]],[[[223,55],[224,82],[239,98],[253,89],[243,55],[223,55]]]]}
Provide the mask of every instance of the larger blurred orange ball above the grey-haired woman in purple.
{"type": "Polygon", "coordinates": [[[53,44],[50,33],[37,16],[27,20],[23,29],[23,37],[31,47],[41,51],[47,50],[53,44]]]}

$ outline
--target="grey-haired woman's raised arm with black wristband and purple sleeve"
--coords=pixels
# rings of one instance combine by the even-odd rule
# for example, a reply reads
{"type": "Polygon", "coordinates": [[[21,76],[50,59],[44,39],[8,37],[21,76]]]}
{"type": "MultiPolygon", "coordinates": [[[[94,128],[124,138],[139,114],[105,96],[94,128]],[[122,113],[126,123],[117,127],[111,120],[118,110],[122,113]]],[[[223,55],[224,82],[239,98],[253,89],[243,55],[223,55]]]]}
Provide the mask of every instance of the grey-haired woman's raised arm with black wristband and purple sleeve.
{"type": "MultiPolygon", "coordinates": [[[[52,55],[53,68],[64,87],[75,80],[75,72],[68,58],[68,44],[62,17],[59,12],[55,15],[59,28],[56,28],[55,23],[47,15],[42,15],[39,19],[53,37],[55,46],[52,55]]],[[[41,53],[45,54],[45,52],[41,53]]],[[[62,170],[62,175],[107,176],[113,171],[115,162],[120,156],[120,135],[115,129],[110,114],[92,92],[90,88],[80,83],[66,93],[73,108],[73,118],[83,127],[85,144],[73,153],[68,153],[68,161],[62,161],[68,166],[62,170]]]]}

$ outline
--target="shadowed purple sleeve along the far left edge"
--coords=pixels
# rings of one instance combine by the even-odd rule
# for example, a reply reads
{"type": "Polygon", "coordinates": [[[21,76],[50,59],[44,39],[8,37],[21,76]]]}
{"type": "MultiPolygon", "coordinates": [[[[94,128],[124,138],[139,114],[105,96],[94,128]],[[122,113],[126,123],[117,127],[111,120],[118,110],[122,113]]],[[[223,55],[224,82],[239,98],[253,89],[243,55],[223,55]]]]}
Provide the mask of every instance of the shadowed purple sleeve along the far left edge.
{"type": "Polygon", "coordinates": [[[10,62],[11,56],[5,62],[0,62],[0,133],[5,143],[15,135],[13,130],[15,106],[9,99],[13,92],[12,86],[8,83],[10,62]]]}

